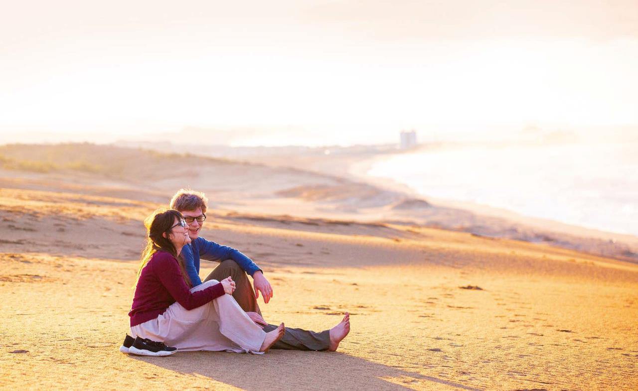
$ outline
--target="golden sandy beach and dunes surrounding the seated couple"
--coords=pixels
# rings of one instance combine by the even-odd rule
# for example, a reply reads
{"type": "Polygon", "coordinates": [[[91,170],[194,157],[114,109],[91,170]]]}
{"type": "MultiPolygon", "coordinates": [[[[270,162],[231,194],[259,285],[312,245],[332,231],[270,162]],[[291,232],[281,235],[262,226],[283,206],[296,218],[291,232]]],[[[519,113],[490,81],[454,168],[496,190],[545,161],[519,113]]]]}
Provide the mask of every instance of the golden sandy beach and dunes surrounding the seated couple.
{"type": "Polygon", "coordinates": [[[40,152],[1,151],[1,389],[638,388],[632,252],[574,233],[556,246],[415,225],[397,216],[495,231],[505,220],[392,209],[410,197],[319,172],[91,145],[40,152]],[[49,160],[25,163],[36,155],[49,160]],[[142,219],[186,186],[211,198],[202,236],[264,269],[267,321],[323,330],[352,314],[338,352],[118,351],[142,219]]]}

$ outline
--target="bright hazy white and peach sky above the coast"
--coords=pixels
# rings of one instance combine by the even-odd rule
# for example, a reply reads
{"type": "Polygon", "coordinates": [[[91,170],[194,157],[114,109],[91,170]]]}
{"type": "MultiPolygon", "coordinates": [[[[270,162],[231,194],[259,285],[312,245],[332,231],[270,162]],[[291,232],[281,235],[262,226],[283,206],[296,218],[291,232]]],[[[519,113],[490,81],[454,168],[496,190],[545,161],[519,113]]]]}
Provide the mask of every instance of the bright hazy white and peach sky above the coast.
{"type": "Polygon", "coordinates": [[[3,3],[0,142],[638,124],[635,0],[3,3]]]}

